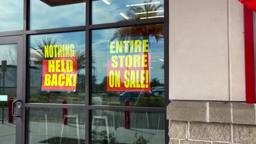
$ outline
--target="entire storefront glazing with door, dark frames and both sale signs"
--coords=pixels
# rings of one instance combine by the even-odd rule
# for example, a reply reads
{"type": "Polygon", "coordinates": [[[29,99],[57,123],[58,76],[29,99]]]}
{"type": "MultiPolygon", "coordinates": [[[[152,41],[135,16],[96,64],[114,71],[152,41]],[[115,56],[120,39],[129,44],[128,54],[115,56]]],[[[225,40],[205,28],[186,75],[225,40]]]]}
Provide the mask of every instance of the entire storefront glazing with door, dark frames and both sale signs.
{"type": "Polygon", "coordinates": [[[166,0],[0,1],[0,144],[167,142],[166,0]]]}

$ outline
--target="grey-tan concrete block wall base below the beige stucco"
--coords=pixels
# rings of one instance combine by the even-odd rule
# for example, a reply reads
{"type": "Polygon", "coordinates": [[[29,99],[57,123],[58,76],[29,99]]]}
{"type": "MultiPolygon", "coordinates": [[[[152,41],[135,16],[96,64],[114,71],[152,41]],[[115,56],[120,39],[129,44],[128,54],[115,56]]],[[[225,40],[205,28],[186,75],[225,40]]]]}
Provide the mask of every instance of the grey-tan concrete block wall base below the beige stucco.
{"type": "Polygon", "coordinates": [[[256,144],[256,104],[173,101],[169,144],[256,144]]]}

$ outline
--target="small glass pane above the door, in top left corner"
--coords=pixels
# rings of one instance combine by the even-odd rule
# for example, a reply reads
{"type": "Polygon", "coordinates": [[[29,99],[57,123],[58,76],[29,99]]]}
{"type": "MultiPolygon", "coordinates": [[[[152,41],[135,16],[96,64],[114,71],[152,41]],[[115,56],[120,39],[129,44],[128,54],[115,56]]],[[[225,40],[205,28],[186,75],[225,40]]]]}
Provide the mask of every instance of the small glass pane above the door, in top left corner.
{"type": "Polygon", "coordinates": [[[0,32],[23,29],[23,0],[1,0],[0,10],[0,32]]]}

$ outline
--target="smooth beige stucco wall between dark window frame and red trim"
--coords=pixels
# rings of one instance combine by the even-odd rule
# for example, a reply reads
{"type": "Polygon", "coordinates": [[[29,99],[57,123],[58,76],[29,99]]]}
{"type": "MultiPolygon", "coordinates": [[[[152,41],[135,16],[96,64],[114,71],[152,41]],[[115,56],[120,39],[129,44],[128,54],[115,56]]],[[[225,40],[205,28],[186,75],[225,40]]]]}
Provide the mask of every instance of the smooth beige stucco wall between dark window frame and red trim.
{"type": "Polygon", "coordinates": [[[170,99],[245,101],[243,5],[170,0],[170,99]]]}

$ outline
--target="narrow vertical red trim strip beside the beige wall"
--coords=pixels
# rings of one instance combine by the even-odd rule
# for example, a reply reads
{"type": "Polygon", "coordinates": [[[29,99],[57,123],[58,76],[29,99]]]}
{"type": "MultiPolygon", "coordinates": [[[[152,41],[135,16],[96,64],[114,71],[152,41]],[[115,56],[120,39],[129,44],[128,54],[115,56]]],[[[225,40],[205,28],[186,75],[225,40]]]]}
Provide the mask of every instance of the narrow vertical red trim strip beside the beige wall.
{"type": "Polygon", "coordinates": [[[255,103],[253,10],[244,6],[246,103],[255,103]]]}

